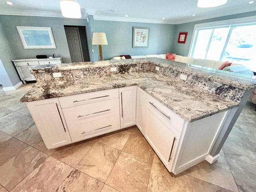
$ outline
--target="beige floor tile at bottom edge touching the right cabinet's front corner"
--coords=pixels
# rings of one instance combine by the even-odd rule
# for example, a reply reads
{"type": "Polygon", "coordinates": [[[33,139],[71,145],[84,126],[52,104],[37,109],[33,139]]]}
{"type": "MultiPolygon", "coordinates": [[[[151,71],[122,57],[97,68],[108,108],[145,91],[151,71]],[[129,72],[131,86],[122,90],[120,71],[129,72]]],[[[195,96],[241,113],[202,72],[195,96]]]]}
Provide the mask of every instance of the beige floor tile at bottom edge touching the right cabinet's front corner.
{"type": "Polygon", "coordinates": [[[192,177],[190,170],[176,176],[170,174],[157,156],[150,172],[147,192],[192,192],[192,177]]]}

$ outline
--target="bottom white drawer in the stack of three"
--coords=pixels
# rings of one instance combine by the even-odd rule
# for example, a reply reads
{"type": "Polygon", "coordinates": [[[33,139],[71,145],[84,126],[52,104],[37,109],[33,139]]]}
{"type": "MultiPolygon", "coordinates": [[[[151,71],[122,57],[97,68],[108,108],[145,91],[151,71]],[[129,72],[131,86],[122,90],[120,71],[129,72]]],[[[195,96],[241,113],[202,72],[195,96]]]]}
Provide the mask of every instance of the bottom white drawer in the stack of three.
{"type": "Polygon", "coordinates": [[[68,127],[72,142],[92,138],[118,129],[120,129],[119,115],[68,127]]]}

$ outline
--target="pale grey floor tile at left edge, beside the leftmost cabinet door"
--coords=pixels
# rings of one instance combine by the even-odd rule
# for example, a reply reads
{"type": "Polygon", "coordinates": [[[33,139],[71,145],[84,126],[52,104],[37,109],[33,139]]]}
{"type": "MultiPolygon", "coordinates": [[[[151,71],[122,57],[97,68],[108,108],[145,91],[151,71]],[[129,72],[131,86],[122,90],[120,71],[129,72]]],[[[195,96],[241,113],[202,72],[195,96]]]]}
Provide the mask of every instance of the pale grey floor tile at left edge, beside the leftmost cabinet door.
{"type": "Polygon", "coordinates": [[[22,116],[23,116],[22,119],[17,120],[16,122],[13,122],[8,126],[5,126],[1,130],[11,136],[15,136],[16,134],[21,133],[22,131],[30,128],[35,124],[34,120],[31,117],[28,117],[25,115],[22,115],[22,116]]]}

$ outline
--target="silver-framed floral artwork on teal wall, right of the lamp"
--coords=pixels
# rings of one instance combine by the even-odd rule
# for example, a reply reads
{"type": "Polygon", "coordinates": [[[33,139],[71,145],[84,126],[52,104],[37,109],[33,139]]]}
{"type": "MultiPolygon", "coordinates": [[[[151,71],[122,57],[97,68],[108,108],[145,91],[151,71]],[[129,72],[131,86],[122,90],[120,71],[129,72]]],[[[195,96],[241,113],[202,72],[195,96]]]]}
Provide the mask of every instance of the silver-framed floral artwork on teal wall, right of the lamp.
{"type": "Polygon", "coordinates": [[[148,27],[132,27],[132,47],[148,48],[149,31],[148,27]]]}

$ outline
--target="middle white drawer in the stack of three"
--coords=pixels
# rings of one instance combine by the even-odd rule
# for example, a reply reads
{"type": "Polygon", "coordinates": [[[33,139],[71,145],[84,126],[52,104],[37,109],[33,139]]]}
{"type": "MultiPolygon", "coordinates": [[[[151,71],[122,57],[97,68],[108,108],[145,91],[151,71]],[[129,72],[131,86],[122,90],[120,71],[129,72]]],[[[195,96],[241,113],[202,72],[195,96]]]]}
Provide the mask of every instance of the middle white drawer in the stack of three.
{"type": "Polygon", "coordinates": [[[67,126],[74,126],[119,114],[119,99],[111,99],[62,110],[67,126]]]}

